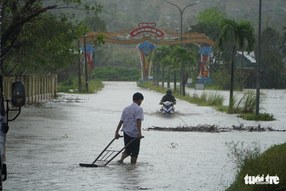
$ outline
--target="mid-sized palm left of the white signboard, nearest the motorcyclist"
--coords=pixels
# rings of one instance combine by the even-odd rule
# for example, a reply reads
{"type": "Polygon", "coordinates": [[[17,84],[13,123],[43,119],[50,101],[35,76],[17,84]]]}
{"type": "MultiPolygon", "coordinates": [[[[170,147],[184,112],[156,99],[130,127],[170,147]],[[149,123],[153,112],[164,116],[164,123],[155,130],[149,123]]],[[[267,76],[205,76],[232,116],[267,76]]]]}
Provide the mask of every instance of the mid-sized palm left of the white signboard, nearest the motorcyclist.
{"type": "Polygon", "coordinates": [[[188,65],[195,66],[196,57],[194,56],[194,53],[187,48],[175,46],[172,49],[171,58],[174,59],[178,65],[182,66],[182,95],[185,96],[185,67],[188,65]]]}

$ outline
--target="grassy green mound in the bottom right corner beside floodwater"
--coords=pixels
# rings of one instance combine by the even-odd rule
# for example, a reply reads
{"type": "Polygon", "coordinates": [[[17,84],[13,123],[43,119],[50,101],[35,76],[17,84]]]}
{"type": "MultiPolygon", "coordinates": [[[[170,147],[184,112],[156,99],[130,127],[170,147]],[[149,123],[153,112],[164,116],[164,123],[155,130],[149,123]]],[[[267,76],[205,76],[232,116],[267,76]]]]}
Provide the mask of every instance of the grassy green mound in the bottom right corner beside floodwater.
{"type": "MultiPolygon", "coordinates": [[[[233,141],[226,143],[231,154],[230,158],[236,164],[235,181],[226,189],[227,191],[262,191],[262,190],[286,190],[286,143],[273,145],[261,153],[260,147],[254,142],[254,150],[245,148],[241,143],[233,141]],[[245,176],[278,176],[278,184],[245,184],[245,176]]],[[[264,179],[265,181],[265,179],[264,179]]]]}

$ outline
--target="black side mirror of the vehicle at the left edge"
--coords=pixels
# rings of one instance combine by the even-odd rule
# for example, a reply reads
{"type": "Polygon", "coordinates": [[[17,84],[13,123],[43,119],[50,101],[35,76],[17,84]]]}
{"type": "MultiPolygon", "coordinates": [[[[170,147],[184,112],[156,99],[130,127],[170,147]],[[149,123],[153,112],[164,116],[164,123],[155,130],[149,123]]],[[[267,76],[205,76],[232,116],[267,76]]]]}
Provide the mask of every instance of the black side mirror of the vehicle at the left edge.
{"type": "Polygon", "coordinates": [[[14,107],[22,107],[26,103],[25,86],[22,82],[14,82],[12,84],[12,105],[14,107]]]}

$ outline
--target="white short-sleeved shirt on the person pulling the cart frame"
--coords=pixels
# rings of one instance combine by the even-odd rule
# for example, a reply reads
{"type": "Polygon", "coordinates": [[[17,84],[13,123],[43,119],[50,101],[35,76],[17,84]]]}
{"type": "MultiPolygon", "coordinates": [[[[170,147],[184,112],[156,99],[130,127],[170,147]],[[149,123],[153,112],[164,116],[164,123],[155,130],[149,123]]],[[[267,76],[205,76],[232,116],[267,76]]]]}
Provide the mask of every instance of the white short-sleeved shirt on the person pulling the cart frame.
{"type": "Polygon", "coordinates": [[[136,103],[132,103],[123,109],[121,121],[123,121],[122,130],[130,137],[138,136],[137,119],[144,120],[143,108],[136,103]]]}

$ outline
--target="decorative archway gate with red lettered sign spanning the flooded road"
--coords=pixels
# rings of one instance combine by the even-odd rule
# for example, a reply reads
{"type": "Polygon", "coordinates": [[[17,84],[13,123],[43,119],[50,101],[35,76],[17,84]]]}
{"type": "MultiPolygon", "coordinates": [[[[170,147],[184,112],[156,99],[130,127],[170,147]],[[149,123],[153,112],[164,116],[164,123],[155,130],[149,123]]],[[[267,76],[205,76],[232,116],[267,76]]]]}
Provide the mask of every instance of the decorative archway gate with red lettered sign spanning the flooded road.
{"type": "MultiPolygon", "coordinates": [[[[180,44],[181,33],[175,33],[173,30],[156,28],[156,23],[139,23],[137,28],[122,29],[121,32],[88,32],[86,41],[93,41],[93,39],[100,33],[104,33],[105,42],[118,44],[138,44],[137,50],[141,60],[141,75],[142,79],[149,79],[152,62],[149,57],[157,44],[171,45],[180,44]],[[154,45],[155,44],[155,45],[154,45]]],[[[201,69],[198,78],[209,77],[208,60],[211,53],[211,47],[214,47],[214,41],[205,34],[198,34],[198,32],[183,33],[182,44],[197,44],[200,47],[201,54],[201,69]],[[203,44],[210,45],[210,47],[202,47],[203,44]]],[[[83,39],[80,40],[83,44],[83,39]]]]}

